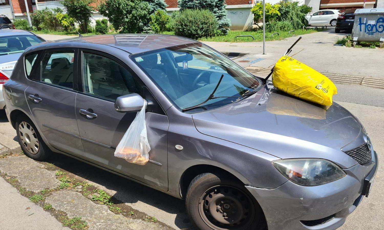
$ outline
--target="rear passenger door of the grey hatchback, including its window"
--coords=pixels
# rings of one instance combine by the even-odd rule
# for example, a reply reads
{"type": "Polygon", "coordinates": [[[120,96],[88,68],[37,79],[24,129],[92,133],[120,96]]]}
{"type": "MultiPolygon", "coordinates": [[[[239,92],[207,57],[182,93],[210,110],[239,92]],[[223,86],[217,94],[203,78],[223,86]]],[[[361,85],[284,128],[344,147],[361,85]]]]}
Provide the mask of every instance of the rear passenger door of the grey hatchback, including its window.
{"type": "Polygon", "coordinates": [[[81,157],[84,149],[74,110],[77,53],[78,49],[46,50],[38,54],[41,58],[37,65],[32,64],[36,61],[34,54],[26,56],[26,71],[32,65],[36,68],[31,70],[25,98],[36,126],[48,142],[61,151],[81,157]]]}

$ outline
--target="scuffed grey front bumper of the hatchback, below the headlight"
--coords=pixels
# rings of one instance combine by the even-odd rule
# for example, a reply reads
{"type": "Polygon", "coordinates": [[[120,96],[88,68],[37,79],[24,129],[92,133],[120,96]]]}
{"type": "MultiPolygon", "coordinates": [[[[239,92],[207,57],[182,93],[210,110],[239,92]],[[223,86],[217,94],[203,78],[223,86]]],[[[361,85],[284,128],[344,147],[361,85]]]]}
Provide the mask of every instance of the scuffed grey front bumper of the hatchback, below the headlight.
{"type": "Polygon", "coordinates": [[[262,207],[269,230],[336,229],[369,194],[377,171],[377,154],[372,155],[371,162],[344,169],[346,176],[328,184],[305,187],[287,181],[275,189],[246,187],[262,207]]]}

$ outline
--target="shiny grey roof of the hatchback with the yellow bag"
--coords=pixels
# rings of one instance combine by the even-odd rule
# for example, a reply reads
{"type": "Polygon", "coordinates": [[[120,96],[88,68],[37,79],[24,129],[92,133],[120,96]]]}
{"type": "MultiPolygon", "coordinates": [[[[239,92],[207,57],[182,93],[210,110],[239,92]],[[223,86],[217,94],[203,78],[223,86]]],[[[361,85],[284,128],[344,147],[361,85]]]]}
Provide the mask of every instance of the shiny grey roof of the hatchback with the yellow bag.
{"type": "MultiPolygon", "coordinates": [[[[128,53],[136,54],[154,49],[167,48],[171,46],[190,44],[197,42],[193,39],[174,35],[160,34],[113,34],[113,35],[93,35],[79,36],[51,41],[53,43],[86,42],[104,44],[107,46],[122,49],[128,53]]],[[[45,43],[46,44],[46,43],[45,43]]]]}

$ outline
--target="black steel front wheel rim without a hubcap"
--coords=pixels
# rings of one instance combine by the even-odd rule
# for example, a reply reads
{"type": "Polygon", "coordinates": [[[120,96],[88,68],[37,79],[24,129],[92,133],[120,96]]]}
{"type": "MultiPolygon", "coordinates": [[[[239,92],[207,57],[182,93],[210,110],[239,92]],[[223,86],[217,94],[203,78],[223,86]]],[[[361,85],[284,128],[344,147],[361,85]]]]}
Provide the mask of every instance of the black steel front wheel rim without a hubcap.
{"type": "Polygon", "coordinates": [[[250,197],[233,186],[214,186],[199,199],[199,214],[215,230],[240,230],[251,225],[255,207],[250,197]]]}

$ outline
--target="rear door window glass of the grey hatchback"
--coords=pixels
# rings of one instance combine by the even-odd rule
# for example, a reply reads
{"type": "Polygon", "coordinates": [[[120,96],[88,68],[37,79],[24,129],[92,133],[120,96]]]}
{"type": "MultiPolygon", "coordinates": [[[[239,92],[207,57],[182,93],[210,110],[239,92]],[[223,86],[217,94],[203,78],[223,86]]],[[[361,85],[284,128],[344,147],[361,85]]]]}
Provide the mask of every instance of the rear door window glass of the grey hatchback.
{"type": "Polygon", "coordinates": [[[73,89],[74,51],[46,52],[41,62],[40,81],[73,89]]]}

